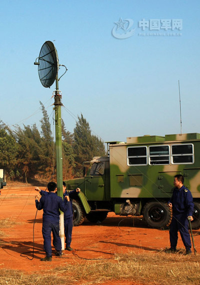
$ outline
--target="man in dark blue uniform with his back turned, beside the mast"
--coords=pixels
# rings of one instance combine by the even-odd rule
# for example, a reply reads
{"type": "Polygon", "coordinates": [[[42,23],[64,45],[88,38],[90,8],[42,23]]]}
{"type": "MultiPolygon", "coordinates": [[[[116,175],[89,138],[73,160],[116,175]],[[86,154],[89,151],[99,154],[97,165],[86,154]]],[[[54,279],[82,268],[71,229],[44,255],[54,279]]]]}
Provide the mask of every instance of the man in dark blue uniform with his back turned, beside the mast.
{"type": "MultiPolygon", "coordinates": [[[[38,200],[39,196],[35,196],[35,205],[38,210],[43,209],[42,216],[42,235],[43,247],[46,256],[41,258],[42,261],[51,261],[51,231],[53,234],[53,245],[55,247],[56,256],[61,256],[61,240],[59,236],[59,209],[65,211],[67,204],[64,204],[62,198],[56,195],[57,185],[55,182],[49,182],[47,185],[48,192],[45,192],[38,200]]],[[[39,190],[37,187],[35,190],[39,190]]]]}

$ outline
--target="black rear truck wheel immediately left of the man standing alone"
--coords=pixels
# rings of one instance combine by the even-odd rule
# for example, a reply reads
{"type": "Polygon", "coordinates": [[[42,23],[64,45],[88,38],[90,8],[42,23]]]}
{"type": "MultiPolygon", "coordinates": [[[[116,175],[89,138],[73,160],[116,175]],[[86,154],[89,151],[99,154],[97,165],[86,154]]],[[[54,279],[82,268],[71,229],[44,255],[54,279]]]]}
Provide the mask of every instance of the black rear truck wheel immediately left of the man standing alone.
{"type": "Polygon", "coordinates": [[[165,227],[171,223],[172,210],[165,202],[151,201],[144,205],[143,217],[150,227],[165,227]]]}

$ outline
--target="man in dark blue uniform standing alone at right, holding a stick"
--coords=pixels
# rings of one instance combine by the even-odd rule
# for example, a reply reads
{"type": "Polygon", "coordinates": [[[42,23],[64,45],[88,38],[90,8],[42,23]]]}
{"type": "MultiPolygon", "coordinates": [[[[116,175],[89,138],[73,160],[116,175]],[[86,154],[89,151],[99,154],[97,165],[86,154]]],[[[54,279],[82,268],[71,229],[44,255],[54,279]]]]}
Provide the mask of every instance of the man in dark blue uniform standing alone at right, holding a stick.
{"type": "Polygon", "coordinates": [[[182,242],[186,249],[186,254],[191,253],[191,240],[188,231],[188,217],[193,220],[193,199],[191,192],[184,187],[184,177],[181,174],[174,176],[173,193],[168,201],[169,207],[172,207],[173,217],[169,228],[170,248],[169,252],[176,251],[178,230],[182,238],[182,242]]]}

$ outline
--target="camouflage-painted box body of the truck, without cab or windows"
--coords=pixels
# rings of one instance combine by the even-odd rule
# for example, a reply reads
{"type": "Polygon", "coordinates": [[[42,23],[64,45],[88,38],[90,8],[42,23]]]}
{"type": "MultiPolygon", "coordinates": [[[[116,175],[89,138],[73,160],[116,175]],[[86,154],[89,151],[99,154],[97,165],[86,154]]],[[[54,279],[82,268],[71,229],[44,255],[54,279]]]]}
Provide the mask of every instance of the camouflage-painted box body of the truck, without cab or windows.
{"type": "Polygon", "coordinates": [[[168,134],[160,136],[128,137],[125,144],[109,146],[111,197],[168,198],[172,193],[173,176],[182,174],[184,184],[192,196],[200,198],[200,134],[168,134]],[[127,166],[128,146],[171,145],[192,143],[194,163],[127,166]],[[119,179],[123,180],[118,182],[119,179]]]}

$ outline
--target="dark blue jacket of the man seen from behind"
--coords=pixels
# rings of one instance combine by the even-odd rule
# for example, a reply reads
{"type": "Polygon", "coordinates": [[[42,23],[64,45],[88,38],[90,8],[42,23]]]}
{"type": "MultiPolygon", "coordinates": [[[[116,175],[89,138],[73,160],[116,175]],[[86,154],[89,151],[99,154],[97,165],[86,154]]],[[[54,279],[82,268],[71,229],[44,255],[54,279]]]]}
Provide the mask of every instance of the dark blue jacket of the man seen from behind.
{"type": "Polygon", "coordinates": [[[53,192],[45,192],[42,194],[40,200],[35,200],[35,205],[38,210],[43,209],[43,221],[59,222],[59,209],[61,211],[66,210],[66,204],[62,201],[62,198],[57,196],[53,192]]]}

